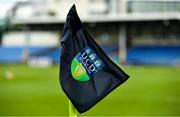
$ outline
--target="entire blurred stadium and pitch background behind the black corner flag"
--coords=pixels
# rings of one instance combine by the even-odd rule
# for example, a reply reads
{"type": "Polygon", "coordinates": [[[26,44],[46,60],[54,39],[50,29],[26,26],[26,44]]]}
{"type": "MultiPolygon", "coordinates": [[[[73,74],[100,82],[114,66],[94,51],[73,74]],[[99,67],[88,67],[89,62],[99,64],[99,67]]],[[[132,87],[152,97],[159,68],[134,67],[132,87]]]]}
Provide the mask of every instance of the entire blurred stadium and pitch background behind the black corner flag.
{"type": "Polygon", "coordinates": [[[75,3],[130,79],[78,116],[180,115],[179,0],[0,0],[0,115],[68,116],[60,37],[75,3]]]}

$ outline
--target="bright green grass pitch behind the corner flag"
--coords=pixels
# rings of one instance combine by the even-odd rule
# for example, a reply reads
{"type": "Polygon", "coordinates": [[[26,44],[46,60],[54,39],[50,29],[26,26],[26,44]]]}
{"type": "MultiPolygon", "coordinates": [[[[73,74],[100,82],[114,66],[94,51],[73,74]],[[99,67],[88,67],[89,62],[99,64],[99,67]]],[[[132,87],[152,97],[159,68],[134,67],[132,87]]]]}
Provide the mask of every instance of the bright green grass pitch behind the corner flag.
{"type": "MultiPolygon", "coordinates": [[[[81,115],[180,115],[179,67],[126,66],[123,70],[130,75],[127,82],[81,115]]],[[[0,65],[0,115],[67,116],[68,99],[58,76],[58,65],[0,65]],[[7,79],[9,72],[13,74],[7,79]]]]}

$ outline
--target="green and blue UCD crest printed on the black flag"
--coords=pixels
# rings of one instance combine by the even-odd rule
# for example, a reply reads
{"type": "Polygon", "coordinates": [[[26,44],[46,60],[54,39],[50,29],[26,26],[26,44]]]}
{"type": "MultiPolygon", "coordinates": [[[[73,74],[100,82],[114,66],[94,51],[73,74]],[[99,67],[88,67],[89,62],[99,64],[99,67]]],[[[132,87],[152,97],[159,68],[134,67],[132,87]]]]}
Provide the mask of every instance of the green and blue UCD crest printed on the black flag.
{"type": "Polygon", "coordinates": [[[84,48],[71,63],[71,74],[78,81],[88,81],[104,66],[103,61],[89,47],[84,48]]]}

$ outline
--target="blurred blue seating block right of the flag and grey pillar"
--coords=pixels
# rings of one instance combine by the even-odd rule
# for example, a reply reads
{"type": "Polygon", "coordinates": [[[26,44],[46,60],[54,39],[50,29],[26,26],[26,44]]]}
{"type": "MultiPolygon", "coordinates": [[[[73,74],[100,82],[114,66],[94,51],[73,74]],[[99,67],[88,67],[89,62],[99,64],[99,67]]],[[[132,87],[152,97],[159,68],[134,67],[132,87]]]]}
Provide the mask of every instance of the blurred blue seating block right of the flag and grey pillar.
{"type": "Polygon", "coordinates": [[[129,64],[180,64],[179,46],[139,46],[128,50],[129,64]]]}

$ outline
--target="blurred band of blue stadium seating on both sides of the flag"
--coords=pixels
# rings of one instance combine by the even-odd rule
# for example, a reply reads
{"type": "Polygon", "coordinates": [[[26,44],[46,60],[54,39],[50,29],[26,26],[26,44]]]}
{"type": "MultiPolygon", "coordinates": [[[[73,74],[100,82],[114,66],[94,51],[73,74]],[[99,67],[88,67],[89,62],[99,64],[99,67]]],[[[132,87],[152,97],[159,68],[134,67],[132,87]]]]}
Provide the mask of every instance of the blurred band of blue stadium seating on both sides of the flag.
{"type": "MultiPolygon", "coordinates": [[[[102,47],[108,56],[118,61],[118,47],[102,47]]],[[[19,63],[23,57],[23,48],[1,47],[0,63],[19,63]]],[[[30,48],[30,57],[49,57],[53,63],[59,63],[60,48],[30,48]]],[[[128,64],[179,65],[180,46],[137,46],[128,49],[128,64]]]]}

